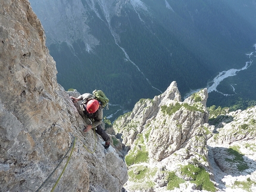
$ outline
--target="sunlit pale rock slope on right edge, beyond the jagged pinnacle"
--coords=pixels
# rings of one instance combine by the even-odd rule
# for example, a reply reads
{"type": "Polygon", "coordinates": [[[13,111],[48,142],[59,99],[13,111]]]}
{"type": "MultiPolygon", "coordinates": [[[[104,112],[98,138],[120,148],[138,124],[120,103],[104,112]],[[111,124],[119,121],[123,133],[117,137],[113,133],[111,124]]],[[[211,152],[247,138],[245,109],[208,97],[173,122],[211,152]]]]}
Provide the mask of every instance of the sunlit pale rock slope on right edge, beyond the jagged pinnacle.
{"type": "Polygon", "coordinates": [[[218,187],[256,190],[256,106],[214,118],[207,141],[209,160],[218,187]]]}

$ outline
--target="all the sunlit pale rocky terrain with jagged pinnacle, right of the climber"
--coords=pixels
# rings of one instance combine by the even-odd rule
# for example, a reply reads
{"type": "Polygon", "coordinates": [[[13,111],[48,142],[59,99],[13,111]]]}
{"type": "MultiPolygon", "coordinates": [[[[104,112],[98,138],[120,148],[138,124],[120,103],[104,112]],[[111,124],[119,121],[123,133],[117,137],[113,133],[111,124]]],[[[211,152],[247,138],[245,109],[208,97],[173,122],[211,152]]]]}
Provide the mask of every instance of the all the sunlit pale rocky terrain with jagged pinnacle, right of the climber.
{"type": "Polygon", "coordinates": [[[114,122],[132,191],[254,191],[256,107],[211,117],[207,89],[180,99],[174,81],[114,122]],[[236,190],[235,190],[236,189],[236,190]]]}

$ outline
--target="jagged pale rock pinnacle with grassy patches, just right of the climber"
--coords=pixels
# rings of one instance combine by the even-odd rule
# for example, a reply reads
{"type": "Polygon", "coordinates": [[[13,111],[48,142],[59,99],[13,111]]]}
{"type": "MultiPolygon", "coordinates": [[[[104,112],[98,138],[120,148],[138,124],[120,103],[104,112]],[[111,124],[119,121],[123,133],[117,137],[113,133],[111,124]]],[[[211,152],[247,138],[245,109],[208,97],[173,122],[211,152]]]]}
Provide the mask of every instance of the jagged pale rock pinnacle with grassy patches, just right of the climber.
{"type": "Polygon", "coordinates": [[[126,155],[130,172],[127,190],[166,191],[168,175],[172,172],[186,178],[181,176],[181,163],[210,171],[206,147],[210,129],[207,97],[204,89],[182,102],[173,81],[166,92],[154,99],[141,99],[132,112],[114,122],[123,143],[131,148],[126,155]],[[146,172],[147,177],[138,180],[142,172],[146,172]]]}

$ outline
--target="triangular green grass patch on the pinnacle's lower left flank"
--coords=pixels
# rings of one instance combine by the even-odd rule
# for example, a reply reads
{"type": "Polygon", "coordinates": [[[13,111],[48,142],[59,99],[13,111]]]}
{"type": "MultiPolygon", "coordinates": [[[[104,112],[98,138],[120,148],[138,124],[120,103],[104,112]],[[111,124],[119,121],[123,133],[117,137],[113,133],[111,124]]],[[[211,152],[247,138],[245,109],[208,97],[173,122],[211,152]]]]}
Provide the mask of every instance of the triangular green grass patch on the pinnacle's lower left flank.
{"type": "Polygon", "coordinates": [[[140,162],[148,162],[148,159],[148,151],[144,144],[143,135],[138,134],[135,141],[135,147],[133,147],[125,157],[126,165],[130,166],[140,162]]]}

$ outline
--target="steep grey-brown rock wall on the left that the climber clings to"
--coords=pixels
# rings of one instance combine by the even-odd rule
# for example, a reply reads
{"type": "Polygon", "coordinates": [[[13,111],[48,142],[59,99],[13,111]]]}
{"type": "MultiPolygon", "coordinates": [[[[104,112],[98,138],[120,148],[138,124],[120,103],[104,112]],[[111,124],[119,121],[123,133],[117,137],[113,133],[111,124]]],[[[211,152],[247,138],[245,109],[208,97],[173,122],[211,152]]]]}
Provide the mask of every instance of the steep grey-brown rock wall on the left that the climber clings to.
{"type": "Polygon", "coordinates": [[[0,191],[120,191],[126,165],[93,131],[82,133],[29,2],[0,4],[0,191]]]}

